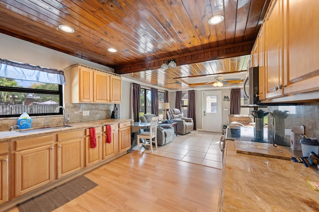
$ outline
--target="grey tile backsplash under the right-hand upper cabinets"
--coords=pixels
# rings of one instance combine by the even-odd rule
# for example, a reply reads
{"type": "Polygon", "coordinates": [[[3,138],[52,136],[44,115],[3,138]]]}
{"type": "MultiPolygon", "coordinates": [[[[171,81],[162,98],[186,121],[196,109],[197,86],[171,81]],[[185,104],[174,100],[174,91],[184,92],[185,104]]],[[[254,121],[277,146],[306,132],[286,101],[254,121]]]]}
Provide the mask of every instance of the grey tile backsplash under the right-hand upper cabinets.
{"type": "Polygon", "coordinates": [[[274,138],[275,141],[278,140],[278,144],[290,145],[291,129],[301,125],[305,127],[305,135],[307,137],[319,138],[319,126],[317,124],[319,121],[319,102],[302,103],[296,106],[268,107],[268,112],[270,113],[274,114],[274,112],[276,113],[278,111],[279,116],[277,116],[277,120],[274,118],[272,121],[273,116],[271,114],[268,115],[268,137],[274,138]],[[288,114],[287,117],[285,113],[288,114]],[[280,116],[281,114],[283,114],[283,116],[280,116]],[[272,122],[274,124],[271,124],[272,122]],[[280,126],[281,123],[283,127],[280,126]],[[276,132],[279,132],[279,135],[277,135],[276,132]],[[285,135],[283,136],[283,134],[285,135]]]}

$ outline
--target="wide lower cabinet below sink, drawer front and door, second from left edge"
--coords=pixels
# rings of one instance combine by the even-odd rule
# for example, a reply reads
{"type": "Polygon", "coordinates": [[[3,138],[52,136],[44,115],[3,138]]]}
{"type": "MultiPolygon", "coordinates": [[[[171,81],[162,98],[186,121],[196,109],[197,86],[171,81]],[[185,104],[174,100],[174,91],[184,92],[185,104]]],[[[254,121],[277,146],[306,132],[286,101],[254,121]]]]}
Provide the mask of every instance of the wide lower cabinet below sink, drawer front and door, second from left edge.
{"type": "Polygon", "coordinates": [[[53,181],[53,136],[15,142],[15,197],[53,181]]]}

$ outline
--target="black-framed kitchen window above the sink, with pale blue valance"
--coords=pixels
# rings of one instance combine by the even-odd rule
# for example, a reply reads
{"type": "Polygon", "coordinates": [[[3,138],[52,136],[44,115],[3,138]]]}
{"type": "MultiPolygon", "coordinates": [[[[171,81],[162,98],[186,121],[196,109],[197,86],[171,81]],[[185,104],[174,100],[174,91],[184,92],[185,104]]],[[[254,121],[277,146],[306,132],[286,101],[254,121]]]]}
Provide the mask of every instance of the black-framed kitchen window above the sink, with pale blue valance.
{"type": "Polygon", "coordinates": [[[0,60],[0,118],[58,115],[62,105],[63,71],[0,60]]]}

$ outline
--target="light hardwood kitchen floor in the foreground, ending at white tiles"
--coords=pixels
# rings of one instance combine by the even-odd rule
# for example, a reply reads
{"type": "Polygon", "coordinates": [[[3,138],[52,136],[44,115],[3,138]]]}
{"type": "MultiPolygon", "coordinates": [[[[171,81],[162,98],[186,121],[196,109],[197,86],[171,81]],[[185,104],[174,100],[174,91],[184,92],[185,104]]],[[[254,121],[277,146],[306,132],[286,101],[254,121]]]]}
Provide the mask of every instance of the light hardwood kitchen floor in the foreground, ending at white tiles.
{"type": "Polygon", "coordinates": [[[55,212],[217,211],[219,169],[132,151],[85,176],[99,185],[55,212]]]}

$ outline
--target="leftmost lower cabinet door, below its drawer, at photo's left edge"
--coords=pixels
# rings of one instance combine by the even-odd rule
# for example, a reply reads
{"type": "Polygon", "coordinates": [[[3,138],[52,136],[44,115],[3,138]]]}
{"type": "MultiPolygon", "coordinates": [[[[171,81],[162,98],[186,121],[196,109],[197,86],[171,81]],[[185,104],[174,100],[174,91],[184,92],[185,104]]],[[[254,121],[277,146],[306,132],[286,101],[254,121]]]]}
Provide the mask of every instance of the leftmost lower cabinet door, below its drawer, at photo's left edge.
{"type": "Polygon", "coordinates": [[[8,155],[0,156],[0,205],[8,202],[8,155]]]}

